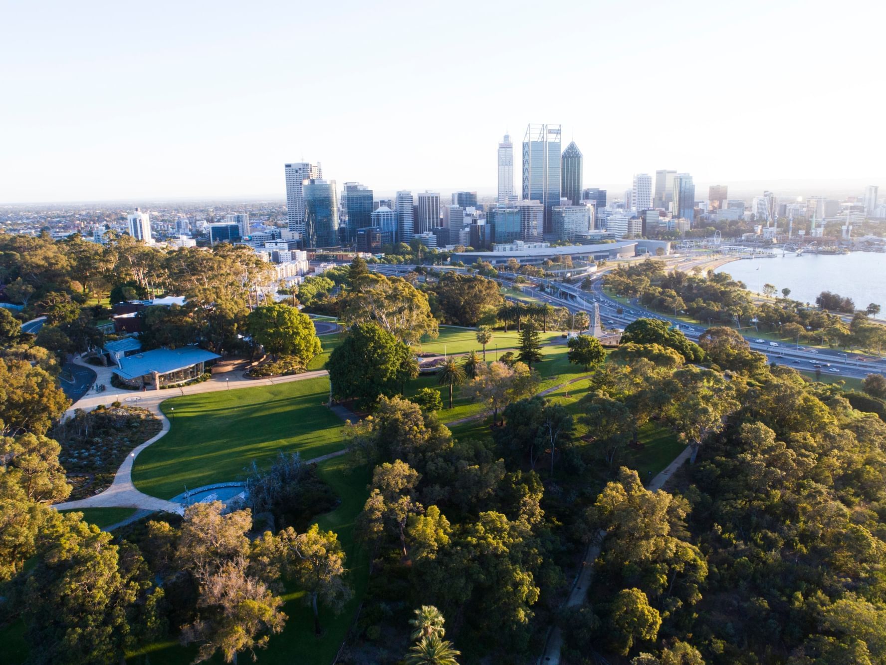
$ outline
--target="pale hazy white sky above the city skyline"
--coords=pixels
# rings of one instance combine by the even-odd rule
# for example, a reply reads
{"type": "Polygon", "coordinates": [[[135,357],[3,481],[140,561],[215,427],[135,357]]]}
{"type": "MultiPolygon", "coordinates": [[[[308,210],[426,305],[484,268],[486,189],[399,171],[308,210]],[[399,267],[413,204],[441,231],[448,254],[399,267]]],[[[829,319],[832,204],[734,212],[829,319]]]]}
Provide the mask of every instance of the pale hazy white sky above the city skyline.
{"type": "Polygon", "coordinates": [[[283,197],[302,159],[492,191],[528,122],[563,125],[586,186],[883,186],[884,7],[0,0],[0,202],[283,197]]]}

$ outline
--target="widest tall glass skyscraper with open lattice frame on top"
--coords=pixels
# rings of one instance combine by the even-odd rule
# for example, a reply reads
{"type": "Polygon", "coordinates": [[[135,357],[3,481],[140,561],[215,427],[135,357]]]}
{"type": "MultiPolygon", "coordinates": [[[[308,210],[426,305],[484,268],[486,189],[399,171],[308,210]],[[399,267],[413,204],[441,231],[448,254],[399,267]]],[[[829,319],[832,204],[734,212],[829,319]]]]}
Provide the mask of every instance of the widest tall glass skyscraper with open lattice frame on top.
{"type": "Polygon", "coordinates": [[[523,139],[523,199],[544,207],[544,231],[551,209],[560,205],[560,125],[529,125],[523,139]]]}

